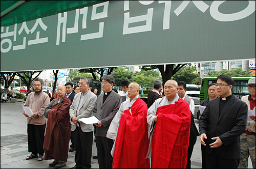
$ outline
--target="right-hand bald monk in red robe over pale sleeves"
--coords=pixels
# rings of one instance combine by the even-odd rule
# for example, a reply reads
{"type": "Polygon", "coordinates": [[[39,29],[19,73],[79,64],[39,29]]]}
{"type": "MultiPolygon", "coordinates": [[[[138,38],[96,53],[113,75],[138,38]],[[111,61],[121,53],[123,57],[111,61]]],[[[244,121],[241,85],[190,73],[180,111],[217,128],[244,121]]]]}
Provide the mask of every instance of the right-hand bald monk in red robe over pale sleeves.
{"type": "Polygon", "coordinates": [[[151,168],[186,168],[190,133],[189,104],[181,99],[175,80],[164,84],[165,97],[157,99],[148,109],[151,168]]]}

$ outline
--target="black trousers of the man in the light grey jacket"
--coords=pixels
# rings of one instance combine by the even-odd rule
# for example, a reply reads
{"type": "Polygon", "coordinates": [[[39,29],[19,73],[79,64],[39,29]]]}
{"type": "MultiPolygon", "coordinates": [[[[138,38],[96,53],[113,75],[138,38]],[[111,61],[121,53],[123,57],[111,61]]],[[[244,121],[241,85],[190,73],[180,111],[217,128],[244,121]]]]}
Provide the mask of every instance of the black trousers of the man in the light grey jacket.
{"type": "Polygon", "coordinates": [[[73,131],[73,136],[75,140],[76,166],[82,168],[91,168],[93,131],[83,132],[81,127],[76,127],[75,131],[73,131]]]}

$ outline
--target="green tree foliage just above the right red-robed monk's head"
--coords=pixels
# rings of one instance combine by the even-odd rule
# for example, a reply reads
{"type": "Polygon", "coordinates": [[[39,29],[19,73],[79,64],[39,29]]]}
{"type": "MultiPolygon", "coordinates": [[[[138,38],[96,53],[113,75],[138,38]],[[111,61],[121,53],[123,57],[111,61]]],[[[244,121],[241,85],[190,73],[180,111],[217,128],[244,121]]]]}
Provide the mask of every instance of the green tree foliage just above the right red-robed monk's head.
{"type": "Polygon", "coordinates": [[[172,79],[178,81],[185,81],[187,84],[193,84],[195,82],[201,84],[201,79],[199,80],[200,75],[197,73],[196,66],[187,66],[181,68],[172,79]]]}

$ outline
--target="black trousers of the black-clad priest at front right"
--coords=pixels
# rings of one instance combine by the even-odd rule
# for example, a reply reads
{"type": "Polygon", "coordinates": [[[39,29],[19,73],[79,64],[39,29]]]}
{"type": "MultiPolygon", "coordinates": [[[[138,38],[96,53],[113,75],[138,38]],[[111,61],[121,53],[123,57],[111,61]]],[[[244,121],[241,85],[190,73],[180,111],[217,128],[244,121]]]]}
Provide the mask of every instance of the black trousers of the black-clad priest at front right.
{"type": "Polygon", "coordinates": [[[226,159],[219,156],[216,148],[211,154],[205,153],[207,168],[238,168],[240,159],[226,159]]]}

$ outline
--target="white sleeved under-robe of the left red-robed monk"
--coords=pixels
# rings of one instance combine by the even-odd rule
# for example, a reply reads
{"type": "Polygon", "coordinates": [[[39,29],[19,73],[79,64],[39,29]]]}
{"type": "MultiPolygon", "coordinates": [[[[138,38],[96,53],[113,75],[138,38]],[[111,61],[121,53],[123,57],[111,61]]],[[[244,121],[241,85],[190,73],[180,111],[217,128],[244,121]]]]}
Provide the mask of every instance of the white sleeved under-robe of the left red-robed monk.
{"type": "MultiPolygon", "coordinates": [[[[108,130],[108,133],[106,133],[106,137],[116,140],[117,131],[118,131],[118,128],[119,128],[119,121],[121,119],[123,111],[129,109],[129,107],[131,107],[133,105],[133,103],[138,98],[139,98],[139,95],[137,95],[133,100],[131,100],[129,98],[129,100],[126,100],[126,101],[122,102],[122,104],[120,105],[119,110],[117,111],[115,117],[113,118],[112,122],[110,123],[110,127],[109,127],[109,130],[108,130]]],[[[132,115],[131,109],[129,109],[129,111],[132,115]]],[[[114,157],[114,152],[115,152],[115,144],[116,144],[116,142],[114,142],[113,148],[111,150],[111,155],[113,157],[114,157]]]]}

